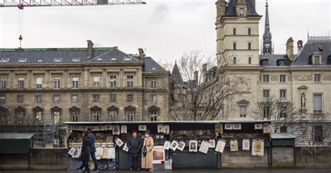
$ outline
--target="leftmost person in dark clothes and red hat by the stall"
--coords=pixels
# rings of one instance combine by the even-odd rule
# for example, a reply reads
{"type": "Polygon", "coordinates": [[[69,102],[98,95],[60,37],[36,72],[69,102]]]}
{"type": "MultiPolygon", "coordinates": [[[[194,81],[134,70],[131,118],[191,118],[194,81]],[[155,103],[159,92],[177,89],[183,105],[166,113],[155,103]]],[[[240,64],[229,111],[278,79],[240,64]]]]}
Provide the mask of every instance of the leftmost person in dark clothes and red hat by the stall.
{"type": "Polygon", "coordinates": [[[89,139],[89,131],[84,130],[82,138],[82,153],[80,158],[82,160],[82,165],[85,167],[84,172],[89,173],[89,155],[91,154],[91,140],[89,139]]]}

